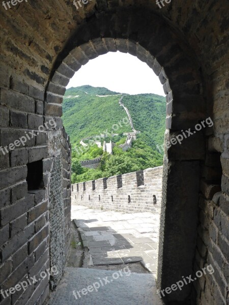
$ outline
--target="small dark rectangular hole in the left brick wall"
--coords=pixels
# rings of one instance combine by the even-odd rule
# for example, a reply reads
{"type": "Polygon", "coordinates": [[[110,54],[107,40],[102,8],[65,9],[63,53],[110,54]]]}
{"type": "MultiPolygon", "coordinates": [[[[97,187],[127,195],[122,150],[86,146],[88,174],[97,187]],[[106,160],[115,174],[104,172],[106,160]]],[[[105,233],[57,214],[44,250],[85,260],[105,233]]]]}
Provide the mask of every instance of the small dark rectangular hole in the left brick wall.
{"type": "Polygon", "coordinates": [[[41,190],[44,188],[42,160],[27,163],[26,181],[28,191],[41,190]]]}

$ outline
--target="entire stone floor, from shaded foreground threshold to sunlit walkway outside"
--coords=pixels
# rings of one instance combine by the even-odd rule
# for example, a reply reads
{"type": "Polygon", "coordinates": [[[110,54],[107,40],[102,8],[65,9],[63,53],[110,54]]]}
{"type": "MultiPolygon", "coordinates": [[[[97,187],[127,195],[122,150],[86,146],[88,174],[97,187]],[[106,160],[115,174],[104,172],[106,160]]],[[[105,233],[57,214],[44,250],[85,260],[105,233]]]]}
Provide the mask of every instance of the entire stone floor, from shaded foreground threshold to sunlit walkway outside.
{"type": "Polygon", "coordinates": [[[84,268],[65,267],[64,277],[47,305],[163,304],[155,284],[158,215],[73,205],[72,219],[84,247],[89,248],[89,259],[84,268]],[[150,273],[131,271],[129,266],[135,262],[150,273]],[[105,265],[113,270],[97,269],[105,265]]]}

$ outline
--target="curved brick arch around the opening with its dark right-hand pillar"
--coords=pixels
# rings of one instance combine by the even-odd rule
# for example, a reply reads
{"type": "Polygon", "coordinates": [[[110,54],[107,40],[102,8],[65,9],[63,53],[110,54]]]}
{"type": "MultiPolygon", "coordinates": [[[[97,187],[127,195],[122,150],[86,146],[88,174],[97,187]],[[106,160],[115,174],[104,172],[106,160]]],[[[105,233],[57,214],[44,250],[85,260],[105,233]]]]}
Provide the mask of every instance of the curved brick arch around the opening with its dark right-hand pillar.
{"type": "MultiPolygon", "coordinates": [[[[185,38],[152,12],[134,9],[98,14],[72,35],[46,86],[46,115],[61,116],[70,78],[90,59],[109,51],[137,56],[159,77],[167,102],[165,140],[193,129],[206,117],[201,70],[185,38]]],[[[158,260],[158,287],[162,289],[192,273],[204,157],[203,134],[165,149],[158,260]]],[[[167,294],[166,300],[185,301],[190,292],[190,285],[186,285],[172,297],[167,294]]]]}

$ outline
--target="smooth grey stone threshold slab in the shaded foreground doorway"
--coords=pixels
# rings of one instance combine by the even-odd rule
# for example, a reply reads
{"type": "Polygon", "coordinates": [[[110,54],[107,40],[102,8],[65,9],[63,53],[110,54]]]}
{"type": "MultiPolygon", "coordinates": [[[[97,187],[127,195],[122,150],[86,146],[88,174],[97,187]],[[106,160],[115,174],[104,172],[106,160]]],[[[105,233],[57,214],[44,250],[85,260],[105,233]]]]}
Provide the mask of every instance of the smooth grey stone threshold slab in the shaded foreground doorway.
{"type": "Polygon", "coordinates": [[[64,277],[47,305],[108,304],[163,305],[163,302],[156,293],[152,274],[129,272],[128,268],[110,271],[66,267],[64,277]],[[98,287],[97,291],[93,284],[98,287]]]}

